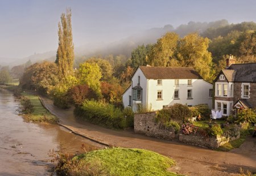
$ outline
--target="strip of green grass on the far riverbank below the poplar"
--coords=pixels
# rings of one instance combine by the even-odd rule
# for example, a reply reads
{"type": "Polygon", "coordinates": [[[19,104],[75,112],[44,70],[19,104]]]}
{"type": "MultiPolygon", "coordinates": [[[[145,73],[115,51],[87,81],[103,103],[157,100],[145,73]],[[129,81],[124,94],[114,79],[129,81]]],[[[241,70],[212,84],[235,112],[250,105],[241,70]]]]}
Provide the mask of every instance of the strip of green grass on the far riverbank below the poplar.
{"type": "Polygon", "coordinates": [[[26,96],[30,100],[34,109],[31,114],[23,114],[23,117],[26,121],[57,123],[58,120],[55,115],[52,115],[43,107],[38,96],[30,95],[27,93],[22,93],[22,95],[26,96]]]}

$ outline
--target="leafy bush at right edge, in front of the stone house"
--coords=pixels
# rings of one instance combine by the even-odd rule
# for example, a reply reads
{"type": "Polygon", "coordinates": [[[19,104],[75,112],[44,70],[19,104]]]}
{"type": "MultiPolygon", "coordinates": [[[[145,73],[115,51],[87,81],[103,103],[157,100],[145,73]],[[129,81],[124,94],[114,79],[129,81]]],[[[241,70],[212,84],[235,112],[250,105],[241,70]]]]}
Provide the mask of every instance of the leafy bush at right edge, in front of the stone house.
{"type": "Polygon", "coordinates": [[[255,109],[243,109],[237,113],[237,121],[236,122],[250,122],[256,123],[256,113],[255,109]]]}

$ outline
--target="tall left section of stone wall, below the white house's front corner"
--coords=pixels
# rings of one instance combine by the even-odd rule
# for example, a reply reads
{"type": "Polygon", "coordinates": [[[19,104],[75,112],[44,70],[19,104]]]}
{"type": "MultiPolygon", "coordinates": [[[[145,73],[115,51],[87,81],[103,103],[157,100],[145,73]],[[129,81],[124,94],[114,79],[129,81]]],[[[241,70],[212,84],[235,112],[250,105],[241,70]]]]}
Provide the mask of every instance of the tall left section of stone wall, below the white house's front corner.
{"type": "Polygon", "coordinates": [[[134,131],[160,139],[174,140],[179,135],[175,131],[168,130],[160,123],[155,122],[156,112],[135,114],[134,115],[134,131]]]}

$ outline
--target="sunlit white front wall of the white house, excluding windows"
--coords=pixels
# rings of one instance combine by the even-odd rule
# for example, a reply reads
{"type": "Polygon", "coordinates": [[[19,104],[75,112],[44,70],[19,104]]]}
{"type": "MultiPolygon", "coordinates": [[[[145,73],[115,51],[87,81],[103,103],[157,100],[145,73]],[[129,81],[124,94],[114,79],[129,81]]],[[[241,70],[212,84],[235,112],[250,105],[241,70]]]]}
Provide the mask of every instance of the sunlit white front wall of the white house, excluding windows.
{"type": "Polygon", "coordinates": [[[162,85],[157,85],[157,80],[148,80],[148,104],[152,109],[162,109],[163,105],[173,105],[175,103],[198,105],[208,104],[212,108],[212,97],[209,97],[209,89],[212,84],[202,79],[192,79],[192,85],[188,85],[188,79],[180,79],[179,86],[175,86],[174,79],[163,79],[162,85]],[[179,100],[174,99],[174,91],[179,89],[179,100]],[[192,99],[187,98],[187,90],[192,89],[192,99]],[[163,91],[163,100],[157,100],[157,92],[163,91]]]}

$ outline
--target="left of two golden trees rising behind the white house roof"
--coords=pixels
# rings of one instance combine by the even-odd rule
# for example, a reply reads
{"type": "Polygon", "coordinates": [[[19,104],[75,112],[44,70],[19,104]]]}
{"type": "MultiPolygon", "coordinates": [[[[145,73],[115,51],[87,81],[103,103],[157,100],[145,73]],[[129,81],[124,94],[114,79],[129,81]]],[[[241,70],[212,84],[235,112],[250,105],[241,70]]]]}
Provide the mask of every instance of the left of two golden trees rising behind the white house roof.
{"type": "Polygon", "coordinates": [[[162,38],[159,38],[154,48],[150,59],[152,66],[175,66],[176,59],[174,57],[177,49],[177,41],[179,36],[174,32],[167,32],[162,38]],[[174,61],[173,61],[174,60],[174,61]]]}

